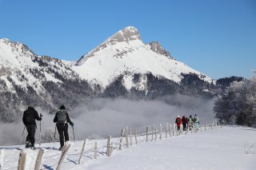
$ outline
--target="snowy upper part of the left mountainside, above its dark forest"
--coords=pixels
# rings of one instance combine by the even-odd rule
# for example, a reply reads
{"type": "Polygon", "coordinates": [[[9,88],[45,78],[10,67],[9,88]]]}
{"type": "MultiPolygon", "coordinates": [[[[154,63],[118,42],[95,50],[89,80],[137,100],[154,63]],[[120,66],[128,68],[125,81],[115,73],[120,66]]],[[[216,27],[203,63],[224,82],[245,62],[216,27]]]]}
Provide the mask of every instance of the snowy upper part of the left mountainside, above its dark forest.
{"type": "Polygon", "coordinates": [[[0,39],[0,80],[6,82],[9,90],[14,90],[14,85],[19,85],[23,89],[30,85],[39,93],[44,89],[42,81],[61,82],[54,77],[54,73],[49,68],[58,71],[64,77],[74,78],[73,71],[62,61],[51,57],[37,56],[22,43],[10,42],[6,38],[0,39]],[[40,74],[40,77],[36,74],[40,74]],[[11,83],[7,77],[14,82],[11,83]]]}

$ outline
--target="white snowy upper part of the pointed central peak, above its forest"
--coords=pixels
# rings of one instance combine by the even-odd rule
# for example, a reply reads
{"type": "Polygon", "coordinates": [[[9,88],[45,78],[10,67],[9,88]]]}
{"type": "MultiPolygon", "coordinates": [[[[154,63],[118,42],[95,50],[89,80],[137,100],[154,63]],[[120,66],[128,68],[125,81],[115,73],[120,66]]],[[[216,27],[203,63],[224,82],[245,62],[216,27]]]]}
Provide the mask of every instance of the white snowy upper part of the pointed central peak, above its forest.
{"type": "Polygon", "coordinates": [[[182,80],[181,73],[196,73],[203,80],[212,81],[210,77],[174,60],[164,50],[158,43],[143,43],[138,30],[129,26],[81,57],[73,69],[81,77],[103,87],[119,75],[126,75],[126,89],[133,86],[134,73],[153,73],[175,82],[182,80]]]}

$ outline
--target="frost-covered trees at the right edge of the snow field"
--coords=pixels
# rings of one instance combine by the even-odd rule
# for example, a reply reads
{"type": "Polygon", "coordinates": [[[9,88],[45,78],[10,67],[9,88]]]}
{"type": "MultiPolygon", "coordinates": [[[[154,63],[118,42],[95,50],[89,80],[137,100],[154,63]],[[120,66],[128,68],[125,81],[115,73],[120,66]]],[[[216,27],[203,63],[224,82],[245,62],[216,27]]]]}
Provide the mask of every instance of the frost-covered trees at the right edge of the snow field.
{"type": "Polygon", "coordinates": [[[234,81],[214,105],[215,116],[227,123],[236,121],[238,125],[256,125],[256,77],[249,81],[234,81]]]}

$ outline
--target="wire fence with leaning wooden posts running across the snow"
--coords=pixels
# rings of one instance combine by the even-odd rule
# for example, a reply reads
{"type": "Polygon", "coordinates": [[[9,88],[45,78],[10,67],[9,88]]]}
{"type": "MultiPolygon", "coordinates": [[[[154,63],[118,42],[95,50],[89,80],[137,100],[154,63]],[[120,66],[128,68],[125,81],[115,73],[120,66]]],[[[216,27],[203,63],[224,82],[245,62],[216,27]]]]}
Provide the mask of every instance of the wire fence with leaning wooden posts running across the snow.
{"type": "MultiPolygon", "coordinates": [[[[166,127],[162,128],[160,124],[159,127],[148,126],[146,127],[146,132],[137,134],[137,128],[134,128],[134,134],[132,134],[132,129],[130,128],[122,128],[122,132],[120,137],[115,137],[111,139],[111,136],[108,139],[104,140],[85,140],[82,147],[75,147],[73,150],[77,151],[79,148],[80,152],[69,152],[64,149],[62,152],[51,154],[49,148],[43,148],[46,152],[46,156],[42,156],[42,163],[40,165],[42,168],[40,169],[58,169],[63,161],[63,164],[68,164],[73,162],[74,164],[85,164],[86,161],[98,159],[99,156],[111,156],[111,154],[115,151],[120,151],[122,148],[129,148],[134,144],[141,144],[146,142],[152,142],[157,140],[164,140],[167,138],[171,138],[174,136],[186,136],[189,134],[206,131],[214,128],[222,128],[225,125],[224,122],[217,123],[217,121],[212,121],[210,123],[205,123],[205,125],[199,125],[196,127],[193,125],[186,125],[185,127],[178,127],[177,125],[171,125],[166,123],[166,127]],[[112,141],[111,141],[112,140],[112,141]],[[81,149],[80,149],[81,148],[81,149]],[[85,149],[86,148],[86,149],[85,149]],[[50,155],[47,155],[50,154],[50,155]],[[77,157],[78,156],[78,157],[77,157]],[[67,157],[67,158],[66,158],[67,157]],[[66,158],[66,159],[65,159],[66,158]],[[71,160],[73,159],[73,160],[71,160]],[[75,159],[75,160],[74,160],[75,159]],[[62,161],[61,161],[62,160],[62,161]],[[60,164],[61,162],[61,164],[60,164]],[[57,165],[57,167],[56,167],[57,165]]],[[[78,145],[78,144],[76,144],[78,145]]],[[[2,150],[2,149],[1,149],[2,150]]],[[[51,151],[53,151],[52,149],[51,151]]],[[[21,152],[23,152],[21,150],[21,152]]],[[[18,166],[12,166],[11,164],[3,164],[4,163],[4,154],[0,152],[0,169],[10,170],[10,169],[25,169],[26,164],[34,164],[31,161],[26,161],[21,163],[21,155],[18,158],[18,166]],[[23,168],[20,167],[20,164],[23,164],[23,168]],[[6,168],[5,168],[6,167],[6,168]]],[[[26,154],[25,154],[26,155],[26,154]]],[[[36,159],[35,159],[36,160],[36,159]]],[[[37,160],[38,161],[38,160],[37,160]]],[[[31,165],[29,167],[32,167],[31,165]]],[[[40,166],[39,166],[40,167],[40,166]]]]}

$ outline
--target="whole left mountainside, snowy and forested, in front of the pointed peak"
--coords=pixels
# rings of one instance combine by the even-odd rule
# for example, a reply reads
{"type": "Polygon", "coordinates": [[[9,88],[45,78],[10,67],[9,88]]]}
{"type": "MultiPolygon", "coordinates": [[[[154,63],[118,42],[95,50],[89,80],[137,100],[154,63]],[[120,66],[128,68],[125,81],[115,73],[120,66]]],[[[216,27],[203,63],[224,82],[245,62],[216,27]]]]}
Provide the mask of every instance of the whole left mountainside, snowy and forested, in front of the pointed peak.
{"type": "Polygon", "coordinates": [[[90,94],[87,84],[63,61],[0,39],[0,121],[20,119],[28,105],[52,113],[63,102],[74,107],[90,94]]]}

